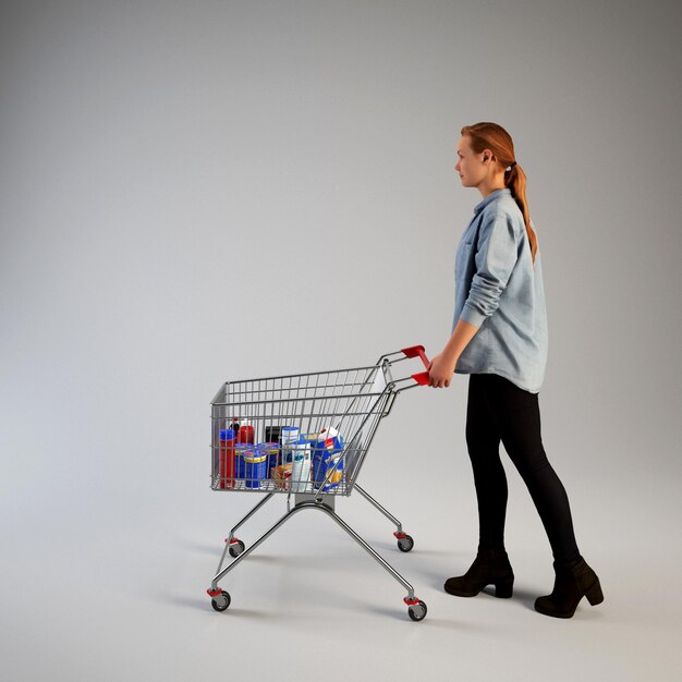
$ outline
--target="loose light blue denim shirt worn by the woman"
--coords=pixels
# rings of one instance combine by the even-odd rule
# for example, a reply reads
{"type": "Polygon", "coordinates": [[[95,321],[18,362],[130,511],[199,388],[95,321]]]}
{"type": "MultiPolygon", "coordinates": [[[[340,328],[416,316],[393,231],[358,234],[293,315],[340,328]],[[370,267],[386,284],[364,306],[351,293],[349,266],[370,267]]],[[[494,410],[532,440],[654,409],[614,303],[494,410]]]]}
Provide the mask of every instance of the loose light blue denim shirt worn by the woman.
{"type": "Polygon", "coordinates": [[[497,374],[539,392],[548,341],[540,252],[533,263],[523,214],[508,187],[474,208],[460,240],[453,330],[459,319],[479,329],[458,360],[458,374],[497,374]]]}

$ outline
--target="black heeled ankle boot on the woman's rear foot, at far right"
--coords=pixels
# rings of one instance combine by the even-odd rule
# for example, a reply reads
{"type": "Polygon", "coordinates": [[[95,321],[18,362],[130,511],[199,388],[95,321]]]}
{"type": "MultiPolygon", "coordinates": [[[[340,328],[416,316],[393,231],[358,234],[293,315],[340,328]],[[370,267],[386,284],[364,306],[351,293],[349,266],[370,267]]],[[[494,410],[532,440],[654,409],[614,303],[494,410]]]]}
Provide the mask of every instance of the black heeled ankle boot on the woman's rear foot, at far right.
{"type": "Polygon", "coordinates": [[[587,597],[592,606],[604,601],[604,594],[597,574],[581,557],[572,564],[558,564],[555,561],[555,588],[550,595],[535,600],[535,610],[553,618],[572,618],[579,601],[587,597]]]}

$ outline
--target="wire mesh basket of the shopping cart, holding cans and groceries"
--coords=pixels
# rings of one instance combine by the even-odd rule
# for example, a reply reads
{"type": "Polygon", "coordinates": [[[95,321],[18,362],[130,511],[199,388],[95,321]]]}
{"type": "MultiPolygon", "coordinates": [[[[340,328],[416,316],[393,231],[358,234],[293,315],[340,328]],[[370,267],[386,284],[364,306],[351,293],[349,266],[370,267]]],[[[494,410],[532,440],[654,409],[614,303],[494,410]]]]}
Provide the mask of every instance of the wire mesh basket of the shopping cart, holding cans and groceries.
{"type": "Polygon", "coordinates": [[[211,488],[350,495],[394,395],[388,363],[227,381],[211,402],[211,488]]]}

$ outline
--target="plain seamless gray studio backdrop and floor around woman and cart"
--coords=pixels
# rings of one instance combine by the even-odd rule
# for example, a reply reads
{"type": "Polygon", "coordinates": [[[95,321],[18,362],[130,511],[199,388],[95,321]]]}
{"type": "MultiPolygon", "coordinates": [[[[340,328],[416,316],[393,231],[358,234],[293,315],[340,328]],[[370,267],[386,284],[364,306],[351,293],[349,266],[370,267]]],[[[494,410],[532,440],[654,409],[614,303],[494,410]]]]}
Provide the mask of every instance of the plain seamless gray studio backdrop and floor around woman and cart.
{"type": "Polygon", "coordinates": [[[7,674],[680,679],[680,14],[3,3],[7,674]],[[414,551],[358,496],[338,504],[415,585],[423,623],[315,514],[231,573],[215,613],[221,539],[259,498],[208,488],[210,398],[226,379],[441,349],[480,200],[454,147],[480,120],[507,127],[528,178],[550,330],[543,434],[605,604],[571,621],[533,611],[551,555],[511,466],[514,598],[442,593],[477,535],[455,377],[401,395],[363,471],[414,551]]]}

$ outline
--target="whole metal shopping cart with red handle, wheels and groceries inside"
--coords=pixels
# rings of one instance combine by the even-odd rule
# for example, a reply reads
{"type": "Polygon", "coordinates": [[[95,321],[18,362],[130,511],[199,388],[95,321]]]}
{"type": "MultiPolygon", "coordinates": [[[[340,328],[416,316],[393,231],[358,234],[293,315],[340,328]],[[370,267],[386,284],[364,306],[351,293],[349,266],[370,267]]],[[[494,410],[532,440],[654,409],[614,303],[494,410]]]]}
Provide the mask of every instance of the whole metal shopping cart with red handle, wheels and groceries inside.
{"type": "Polygon", "coordinates": [[[211,605],[224,611],[230,594],[218,583],[291,516],[319,510],[333,519],[403,587],[407,613],[426,616],[426,604],[412,585],[382,559],[334,511],[337,496],[357,490],[395,524],[398,548],[410,551],[414,540],[402,524],[356,484],[379,422],[405,389],[428,385],[428,372],[393,378],[399,362],[421,357],[424,346],[382,355],[375,365],[226,382],[211,402],[211,489],[265,492],[265,497],[230,531],[218,570],[207,589],[211,605]],[[235,532],[273,495],[288,496],[287,513],[247,549],[235,532]],[[291,497],[294,498],[293,507],[291,497]],[[226,555],[234,561],[223,568],[226,555]]]}

